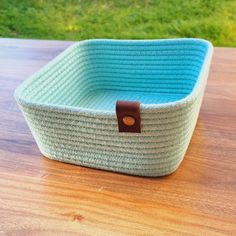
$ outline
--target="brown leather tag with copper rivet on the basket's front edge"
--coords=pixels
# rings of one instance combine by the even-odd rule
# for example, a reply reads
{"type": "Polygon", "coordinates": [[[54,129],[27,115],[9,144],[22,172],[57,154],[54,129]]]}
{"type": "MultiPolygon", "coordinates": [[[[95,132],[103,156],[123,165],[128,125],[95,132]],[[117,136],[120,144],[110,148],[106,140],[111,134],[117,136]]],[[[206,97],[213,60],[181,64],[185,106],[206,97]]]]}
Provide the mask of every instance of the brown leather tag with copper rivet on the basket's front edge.
{"type": "Polygon", "coordinates": [[[117,101],[116,116],[119,132],[141,133],[139,102],[117,101]]]}

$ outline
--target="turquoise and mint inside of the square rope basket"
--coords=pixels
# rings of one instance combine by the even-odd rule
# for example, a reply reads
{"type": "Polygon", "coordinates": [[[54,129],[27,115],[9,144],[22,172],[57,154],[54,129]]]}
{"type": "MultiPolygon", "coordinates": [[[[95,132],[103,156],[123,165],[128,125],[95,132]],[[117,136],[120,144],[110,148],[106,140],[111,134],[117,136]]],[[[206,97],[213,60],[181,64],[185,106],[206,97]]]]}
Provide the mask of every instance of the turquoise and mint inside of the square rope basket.
{"type": "Polygon", "coordinates": [[[114,110],[117,100],[168,103],[193,90],[205,41],[88,40],[68,49],[20,89],[32,102],[114,110]]]}

